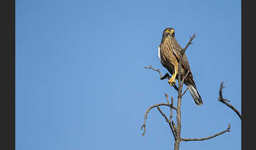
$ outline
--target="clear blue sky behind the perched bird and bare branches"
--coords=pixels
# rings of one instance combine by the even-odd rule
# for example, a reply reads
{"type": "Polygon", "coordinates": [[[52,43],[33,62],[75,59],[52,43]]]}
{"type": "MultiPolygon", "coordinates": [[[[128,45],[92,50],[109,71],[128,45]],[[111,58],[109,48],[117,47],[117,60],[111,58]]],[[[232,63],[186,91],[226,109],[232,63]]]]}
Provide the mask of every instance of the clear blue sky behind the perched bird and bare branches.
{"type": "MultiPolygon", "coordinates": [[[[16,149],[173,149],[163,116],[146,109],[177,93],[143,67],[166,27],[185,47],[204,104],[182,100],[183,138],[231,132],[180,149],[241,149],[241,1],[16,0],[16,149]]],[[[169,109],[161,107],[169,115],[169,109]]],[[[175,119],[175,114],[174,117],[175,119]]],[[[175,121],[175,120],[174,120],[175,121]]]]}

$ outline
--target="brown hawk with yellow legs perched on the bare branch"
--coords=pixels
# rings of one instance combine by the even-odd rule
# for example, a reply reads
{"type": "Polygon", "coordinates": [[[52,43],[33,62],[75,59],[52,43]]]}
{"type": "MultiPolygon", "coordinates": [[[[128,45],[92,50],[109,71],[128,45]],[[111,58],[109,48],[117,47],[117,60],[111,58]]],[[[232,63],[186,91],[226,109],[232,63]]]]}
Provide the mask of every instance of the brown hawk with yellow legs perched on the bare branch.
{"type": "MultiPolygon", "coordinates": [[[[178,68],[180,61],[180,51],[181,46],[178,44],[175,36],[175,31],[173,28],[166,28],[163,31],[163,37],[161,44],[158,47],[158,56],[162,65],[172,74],[171,79],[168,81],[172,86],[172,83],[176,83],[175,79],[178,79],[178,68]]],[[[193,80],[192,72],[189,66],[189,61],[184,53],[181,65],[181,79],[186,76],[189,71],[188,76],[184,79],[184,83],[189,87],[189,91],[195,101],[195,104],[202,105],[203,101],[201,96],[196,89],[195,82],[193,80]]]]}

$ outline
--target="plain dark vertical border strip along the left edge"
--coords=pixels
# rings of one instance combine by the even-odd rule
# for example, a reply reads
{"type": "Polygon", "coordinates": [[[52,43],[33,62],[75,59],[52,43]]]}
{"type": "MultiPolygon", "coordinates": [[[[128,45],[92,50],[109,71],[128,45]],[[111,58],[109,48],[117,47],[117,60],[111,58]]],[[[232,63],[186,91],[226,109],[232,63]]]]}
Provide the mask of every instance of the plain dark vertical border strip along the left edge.
{"type": "Polygon", "coordinates": [[[15,149],[15,0],[1,1],[1,148],[15,149]]]}

